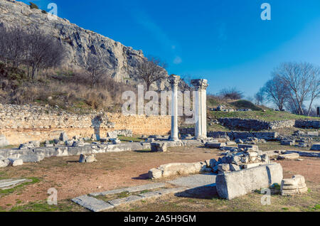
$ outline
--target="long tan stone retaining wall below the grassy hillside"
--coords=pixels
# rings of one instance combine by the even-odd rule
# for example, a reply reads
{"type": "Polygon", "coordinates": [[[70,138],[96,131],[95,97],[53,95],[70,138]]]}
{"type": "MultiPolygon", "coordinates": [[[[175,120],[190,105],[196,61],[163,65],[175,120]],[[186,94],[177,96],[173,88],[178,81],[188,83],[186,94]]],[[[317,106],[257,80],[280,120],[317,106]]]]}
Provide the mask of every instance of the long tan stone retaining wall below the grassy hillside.
{"type": "Polygon", "coordinates": [[[0,104],[0,134],[6,136],[10,145],[56,139],[61,131],[69,137],[106,137],[108,131],[123,129],[132,130],[133,134],[166,135],[171,129],[171,118],[109,112],[71,114],[49,107],[0,104]]]}

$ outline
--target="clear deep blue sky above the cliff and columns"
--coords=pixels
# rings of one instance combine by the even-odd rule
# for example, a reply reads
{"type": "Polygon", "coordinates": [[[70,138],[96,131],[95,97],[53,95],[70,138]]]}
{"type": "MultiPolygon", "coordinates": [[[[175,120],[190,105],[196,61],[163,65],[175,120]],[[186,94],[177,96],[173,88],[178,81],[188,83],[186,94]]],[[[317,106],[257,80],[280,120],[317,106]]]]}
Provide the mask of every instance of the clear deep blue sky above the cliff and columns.
{"type": "MultiPolygon", "coordinates": [[[[28,3],[28,1],[24,1],[28,3]]],[[[279,63],[320,65],[319,0],[38,0],[67,18],[168,63],[169,74],[206,78],[208,92],[253,96],[279,63]],[[271,21],[262,21],[262,3],[271,21]]]]}

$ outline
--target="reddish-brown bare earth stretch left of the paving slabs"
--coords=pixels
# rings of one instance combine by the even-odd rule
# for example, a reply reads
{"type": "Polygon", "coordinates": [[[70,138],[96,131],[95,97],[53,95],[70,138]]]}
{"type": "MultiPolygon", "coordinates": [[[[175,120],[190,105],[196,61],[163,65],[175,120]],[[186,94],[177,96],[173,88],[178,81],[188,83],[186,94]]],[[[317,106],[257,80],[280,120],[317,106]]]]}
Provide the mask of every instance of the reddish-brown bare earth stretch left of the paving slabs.
{"type": "Polygon", "coordinates": [[[75,198],[87,193],[149,183],[150,168],[172,162],[196,162],[217,158],[218,151],[194,147],[169,149],[166,153],[127,151],[97,154],[95,163],[78,163],[79,156],[45,158],[40,163],[0,168],[0,178],[40,178],[39,183],[26,185],[20,193],[0,198],[0,206],[28,203],[48,198],[47,190],[56,188],[58,200],[75,198]]]}

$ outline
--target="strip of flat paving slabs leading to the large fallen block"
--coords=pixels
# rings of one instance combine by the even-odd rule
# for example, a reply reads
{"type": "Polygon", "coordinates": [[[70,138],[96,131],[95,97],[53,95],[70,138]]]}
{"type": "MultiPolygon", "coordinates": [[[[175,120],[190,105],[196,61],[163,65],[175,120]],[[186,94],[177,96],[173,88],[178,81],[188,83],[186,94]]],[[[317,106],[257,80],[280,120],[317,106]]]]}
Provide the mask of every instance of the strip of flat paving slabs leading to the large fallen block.
{"type": "Polygon", "coordinates": [[[177,178],[176,180],[167,181],[166,183],[149,183],[129,188],[107,190],[101,193],[90,193],[89,195],[82,195],[77,198],[73,198],[73,202],[87,208],[88,210],[100,212],[112,209],[118,205],[134,203],[137,200],[146,200],[148,198],[159,198],[161,195],[172,193],[178,197],[211,198],[213,195],[216,195],[215,175],[210,173],[196,174],[177,178]],[[174,185],[175,187],[167,188],[167,185],[174,185]],[[142,191],[146,192],[143,193],[142,191]],[[100,195],[114,195],[124,192],[137,194],[108,201],[100,200],[98,198],[100,195]]]}

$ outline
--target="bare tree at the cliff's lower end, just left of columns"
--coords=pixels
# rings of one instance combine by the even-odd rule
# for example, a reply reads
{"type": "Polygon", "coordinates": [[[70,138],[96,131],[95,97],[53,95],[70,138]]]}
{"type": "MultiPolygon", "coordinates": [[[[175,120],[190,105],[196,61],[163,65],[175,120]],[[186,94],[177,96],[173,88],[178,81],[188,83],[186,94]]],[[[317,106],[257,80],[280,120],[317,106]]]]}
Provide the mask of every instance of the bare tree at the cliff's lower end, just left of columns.
{"type": "Polygon", "coordinates": [[[163,80],[167,77],[165,70],[166,63],[161,62],[158,58],[149,57],[137,63],[139,77],[146,82],[146,90],[150,90],[152,83],[163,80]]]}

